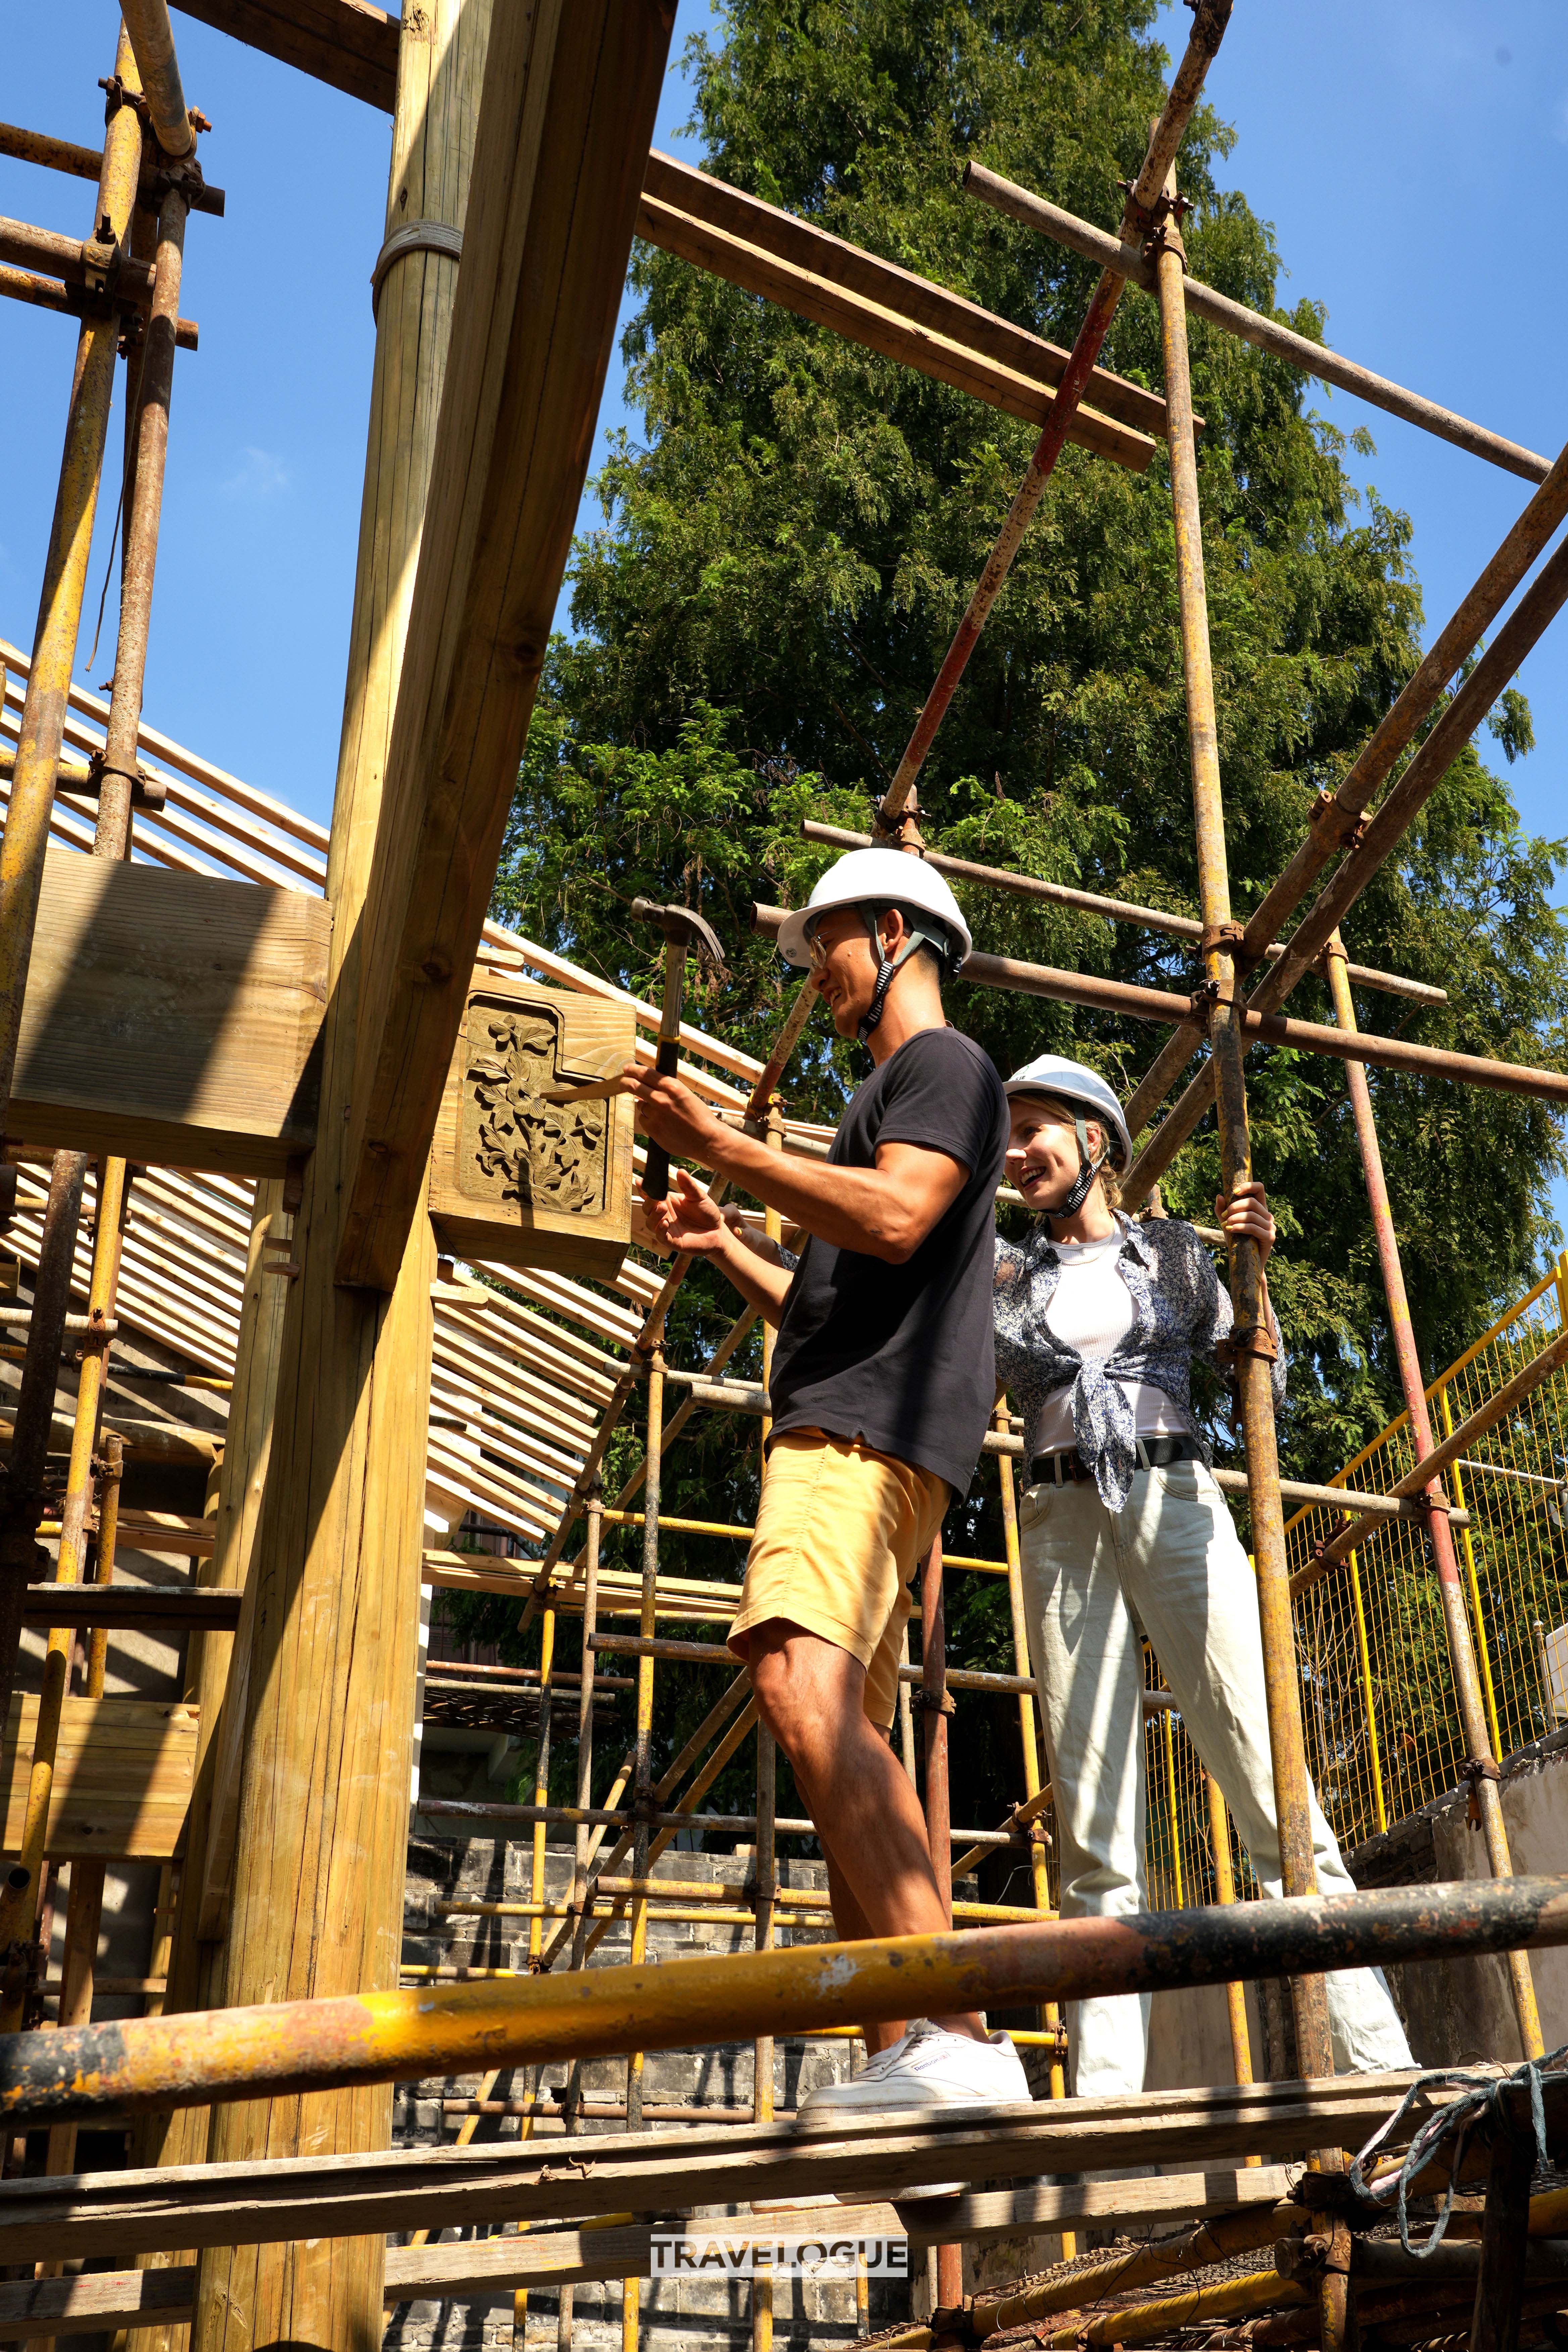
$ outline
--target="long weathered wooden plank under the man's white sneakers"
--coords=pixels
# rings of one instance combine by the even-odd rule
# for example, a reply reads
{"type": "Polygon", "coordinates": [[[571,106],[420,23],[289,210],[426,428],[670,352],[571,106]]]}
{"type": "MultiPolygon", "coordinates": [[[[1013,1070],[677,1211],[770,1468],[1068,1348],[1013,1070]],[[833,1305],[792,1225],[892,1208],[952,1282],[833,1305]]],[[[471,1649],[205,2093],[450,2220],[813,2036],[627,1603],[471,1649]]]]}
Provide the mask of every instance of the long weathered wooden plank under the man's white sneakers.
{"type": "MultiPolygon", "coordinates": [[[[1039,2183],[1041,2173],[1110,2166],[1145,2173],[1143,2194],[1152,2192],[1157,2199],[1147,2218],[1157,2218],[1168,2211],[1159,2199],[1173,2194],[1173,2180],[1152,2178],[1152,2166],[1225,2171],[1234,2178],[1232,2169],[1246,2154],[1279,2159],[1326,2143],[1359,2147],[1392,2114],[1413,2079],[1413,2072],[1399,2072],[1312,2084],[1150,2091],[1133,2098],[1041,2100],[1032,2107],[987,2110],[983,2117],[976,2110],[945,2110],[919,2122],[867,2117],[818,2131],[799,2117],[780,2117],[750,2126],[595,2133],[592,2161],[574,2161],[555,2140],[512,2140],[390,2154],[190,2164],[78,2176],[71,2183],[5,2180],[0,2263],[71,2260],[78,2253],[120,2258],[181,2246],[334,2239],[501,2220],[564,2223],[628,2209],[668,2213],[752,2199],[790,2204],[839,2190],[856,2201],[891,2201],[917,2194],[922,2180],[952,2178],[1016,2180],[1025,2185],[1023,2194],[1041,2199],[1051,2194],[1039,2183]]],[[[1413,2114],[1413,2129],[1453,2096],[1429,2091],[1413,2114]]],[[[1110,2201],[1112,2213],[1135,2209],[1138,2183],[1100,2185],[1121,2199],[1110,2201]]],[[[997,2218],[994,2209],[983,2211],[997,2218]]],[[[1051,2216],[1051,2227],[1070,2225],[1067,2213],[1084,2213],[1081,2206],[1063,2211],[1039,2201],[1023,2211],[1034,2220],[1051,2216]]],[[[947,2237],[947,2209],[940,2220],[947,2237]]]]}

